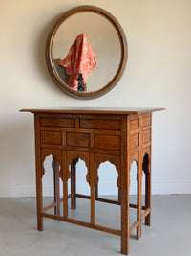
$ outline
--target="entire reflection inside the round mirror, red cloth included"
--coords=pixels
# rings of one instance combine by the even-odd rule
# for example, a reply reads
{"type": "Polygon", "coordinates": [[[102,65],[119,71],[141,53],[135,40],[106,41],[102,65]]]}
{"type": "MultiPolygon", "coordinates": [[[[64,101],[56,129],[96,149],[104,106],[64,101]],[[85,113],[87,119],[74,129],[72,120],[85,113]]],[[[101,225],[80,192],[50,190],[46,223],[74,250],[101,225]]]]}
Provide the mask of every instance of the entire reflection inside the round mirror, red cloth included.
{"type": "Polygon", "coordinates": [[[104,16],[94,12],[70,16],[62,22],[53,38],[53,63],[57,75],[74,90],[77,90],[79,73],[86,84],[84,92],[99,90],[111,81],[117,73],[120,52],[116,29],[104,16]],[[62,67],[61,59],[65,60],[62,62],[68,72],[62,67]]]}

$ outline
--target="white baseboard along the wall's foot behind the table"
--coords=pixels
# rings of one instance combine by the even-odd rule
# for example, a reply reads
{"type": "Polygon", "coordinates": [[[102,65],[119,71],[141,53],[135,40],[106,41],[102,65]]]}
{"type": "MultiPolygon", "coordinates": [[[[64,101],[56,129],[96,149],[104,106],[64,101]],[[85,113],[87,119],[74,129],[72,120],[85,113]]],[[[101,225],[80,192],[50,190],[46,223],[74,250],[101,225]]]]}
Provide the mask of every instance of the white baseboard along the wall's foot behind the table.
{"type": "MultiPolygon", "coordinates": [[[[99,190],[100,195],[117,195],[117,190],[111,190],[111,186],[105,186],[104,191],[99,190]]],[[[78,192],[82,194],[90,194],[90,190],[84,190],[84,187],[78,187],[78,192]]],[[[135,195],[134,191],[131,193],[135,195]]],[[[166,184],[152,184],[153,195],[165,195],[165,194],[191,194],[191,183],[166,183],[166,184]]],[[[0,187],[0,198],[19,198],[19,197],[35,197],[35,187],[32,186],[6,186],[0,187]]],[[[47,186],[44,188],[44,196],[53,196],[53,187],[47,186]]]]}

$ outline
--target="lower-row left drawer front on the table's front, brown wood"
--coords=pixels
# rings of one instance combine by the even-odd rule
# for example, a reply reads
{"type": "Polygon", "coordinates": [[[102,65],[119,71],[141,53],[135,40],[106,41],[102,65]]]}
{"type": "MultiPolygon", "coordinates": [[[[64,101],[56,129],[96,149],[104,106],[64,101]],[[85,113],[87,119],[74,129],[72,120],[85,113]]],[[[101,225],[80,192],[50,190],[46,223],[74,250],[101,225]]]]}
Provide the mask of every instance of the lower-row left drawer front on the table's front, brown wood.
{"type": "Polygon", "coordinates": [[[40,142],[47,144],[62,144],[62,134],[59,131],[41,131],[40,132],[40,142]]]}

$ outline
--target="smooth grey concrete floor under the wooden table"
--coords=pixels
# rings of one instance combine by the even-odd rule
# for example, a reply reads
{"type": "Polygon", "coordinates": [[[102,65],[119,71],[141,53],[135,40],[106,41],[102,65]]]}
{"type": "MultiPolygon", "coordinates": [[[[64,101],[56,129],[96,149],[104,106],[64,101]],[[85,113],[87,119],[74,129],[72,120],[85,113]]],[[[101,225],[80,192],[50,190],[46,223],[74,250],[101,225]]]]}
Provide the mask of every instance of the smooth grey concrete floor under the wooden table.
{"type": "MultiPolygon", "coordinates": [[[[77,201],[79,219],[85,218],[80,211],[87,202],[77,201]]],[[[97,205],[97,221],[117,227],[119,206],[110,207],[97,205]]],[[[0,198],[0,255],[121,255],[118,236],[50,219],[44,219],[44,226],[43,232],[36,230],[35,198],[0,198]]],[[[129,255],[190,256],[191,195],[153,196],[152,226],[142,226],[139,241],[131,235],[129,255]]]]}

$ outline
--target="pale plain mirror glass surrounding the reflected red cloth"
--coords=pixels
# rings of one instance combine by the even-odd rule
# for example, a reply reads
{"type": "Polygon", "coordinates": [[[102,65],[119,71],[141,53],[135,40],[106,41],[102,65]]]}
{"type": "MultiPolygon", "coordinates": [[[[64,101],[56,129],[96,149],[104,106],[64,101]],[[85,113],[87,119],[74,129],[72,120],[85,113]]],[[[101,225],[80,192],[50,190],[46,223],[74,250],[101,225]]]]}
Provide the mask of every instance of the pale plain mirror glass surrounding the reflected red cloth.
{"type": "Polygon", "coordinates": [[[120,41],[114,26],[104,16],[94,12],[75,13],[62,22],[53,38],[52,58],[57,75],[68,86],[71,85],[66,68],[58,63],[66,58],[74,40],[80,34],[87,36],[96,58],[96,67],[87,76],[87,91],[84,91],[94,92],[116,75],[121,58],[120,41]]]}

